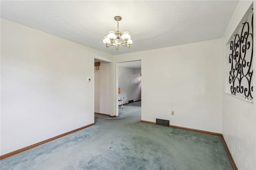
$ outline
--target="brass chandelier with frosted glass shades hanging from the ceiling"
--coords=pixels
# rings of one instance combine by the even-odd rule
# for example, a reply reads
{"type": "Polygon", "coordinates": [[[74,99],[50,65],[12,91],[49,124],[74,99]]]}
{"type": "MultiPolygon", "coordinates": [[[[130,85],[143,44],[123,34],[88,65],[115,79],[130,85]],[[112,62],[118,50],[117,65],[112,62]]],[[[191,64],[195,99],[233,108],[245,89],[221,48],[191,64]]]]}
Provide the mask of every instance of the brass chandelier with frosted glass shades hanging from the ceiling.
{"type": "Polygon", "coordinates": [[[131,36],[129,35],[129,32],[124,32],[122,34],[122,32],[119,31],[119,21],[122,20],[122,17],[120,16],[115,16],[114,20],[117,21],[117,31],[110,31],[108,32],[108,36],[104,37],[103,43],[106,44],[106,47],[108,48],[109,46],[114,46],[116,47],[116,51],[118,51],[120,46],[124,46],[127,48],[130,48],[130,45],[132,44],[132,40],[131,40],[131,36]],[[120,40],[120,38],[122,38],[122,40],[124,40],[124,42],[122,42],[122,40],[120,40]]]}

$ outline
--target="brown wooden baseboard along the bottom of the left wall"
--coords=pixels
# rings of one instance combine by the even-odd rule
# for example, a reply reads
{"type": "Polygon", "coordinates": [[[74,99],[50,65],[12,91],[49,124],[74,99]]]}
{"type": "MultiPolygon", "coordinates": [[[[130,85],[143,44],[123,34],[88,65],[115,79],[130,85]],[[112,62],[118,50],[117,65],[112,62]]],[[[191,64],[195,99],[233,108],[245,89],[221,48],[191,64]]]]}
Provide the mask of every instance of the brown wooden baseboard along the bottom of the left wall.
{"type": "Polygon", "coordinates": [[[74,133],[74,132],[76,132],[76,131],[78,131],[78,130],[82,130],[83,128],[90,127],[90,126],[92,126],[92,125],[95,125],[95,123],[91,123],[91,124],[86,125],[86,126],[84,126],[84,127],[80,127],[80,128],[71,130],[71,131],[69,131],[69,132],[60,134],[60,135],[58,135],[58,136],[54,136],[54,137],[52,137],[52,138],[43,140],[43,141],[41,141],[41,142],[32,144],[32,145],[30,145],[30,146],[26,146],[26,147],[24,147],[24,148],[21,148],[21,149],[18,149],[18,150],[14,150],[13,152],[10,152],[10,153],[1,155],[1,156],[0,156],[0,160],[1,160],[1,159],[4,159],[4,158],[7,158],[7,157],[9,157],[9,156],[13,156],[13,155],[15,155],[15,154],[18,154],[18,153],[20,153],[20,152],[24,152],[25,150],[29,150],[29,149],[34,148],[34,147],[36,147],[36,146],[39,146],[39,145],[41,145],[41,144],[50,142],[50,141],[55,140],[55,139],[57,139],[57,138],[60,138],[60,137],[62,137],[62,136],[66,136],[67,134],[71,134],[71,133],[74,133]]]}

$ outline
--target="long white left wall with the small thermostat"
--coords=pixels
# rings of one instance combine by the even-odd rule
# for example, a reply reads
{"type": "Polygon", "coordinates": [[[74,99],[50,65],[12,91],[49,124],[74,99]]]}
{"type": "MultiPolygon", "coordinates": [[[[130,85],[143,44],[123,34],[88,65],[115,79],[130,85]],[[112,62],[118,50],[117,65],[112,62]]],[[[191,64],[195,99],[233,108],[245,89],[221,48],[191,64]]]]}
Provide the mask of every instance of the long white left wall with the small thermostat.
{"type": "Polygon", "coordinates": [[[1,155],[94,123],[94,58],[113,60],[1,19],[1,155]]]}

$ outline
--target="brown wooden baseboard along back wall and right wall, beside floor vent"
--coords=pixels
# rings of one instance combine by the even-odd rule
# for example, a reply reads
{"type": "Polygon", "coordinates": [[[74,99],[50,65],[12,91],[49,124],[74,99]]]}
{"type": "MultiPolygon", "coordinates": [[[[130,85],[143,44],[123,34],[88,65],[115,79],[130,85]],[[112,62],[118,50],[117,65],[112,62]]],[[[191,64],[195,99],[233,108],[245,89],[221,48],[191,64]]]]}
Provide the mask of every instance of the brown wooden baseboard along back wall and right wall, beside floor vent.
{"type": "MultiPolygon", "coordinates": [[[[144,122],[144,123],[150,123],[150,124],[156,124],[155,122],[150,122],[150,121],[143,121],[141,120],[141,122],[144,122]]],[[[220,136],[222,138],[222,142],[226,148],[226,151],[228,153],[228,157],[230,158],[230,161],[232,163],[232,166],[234,168],[234,170],[238,170],[237,166],[236,166],[236,162],[234,161],[232,155],[231,155],[231,152],[230,150],[228,149],[228,145],[224,139],[224,136],[223,134],[221,133],[216,133],[216,132],[209,132],[209,131],[205,131],[205,130],[198,130],[198,129],[194,129],[194,128],[186,128],[186,127],[178,127],[178,126],[174,126],[174,125],[170,125],[170,127],[173,127],[173,128],[180,128],[180,129],[184,129],[184,130],[191,130],[191,131],[194,131],[194,132],[200,132],[200,133],[206,133],[206,134],[213,134],[213,135],[217,135],[217,136],[220,136]]]]}

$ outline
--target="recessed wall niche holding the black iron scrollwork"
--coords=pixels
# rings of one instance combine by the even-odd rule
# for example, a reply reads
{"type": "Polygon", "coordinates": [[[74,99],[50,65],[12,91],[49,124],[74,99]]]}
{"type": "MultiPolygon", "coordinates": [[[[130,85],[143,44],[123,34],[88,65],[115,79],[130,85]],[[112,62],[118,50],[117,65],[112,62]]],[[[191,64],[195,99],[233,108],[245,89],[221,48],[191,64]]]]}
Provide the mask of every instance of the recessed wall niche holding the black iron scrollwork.
{"type": "Polygon", "coordinates": [[[253,5],[226,43],[225,91],[253,103],[253,5]]]}

